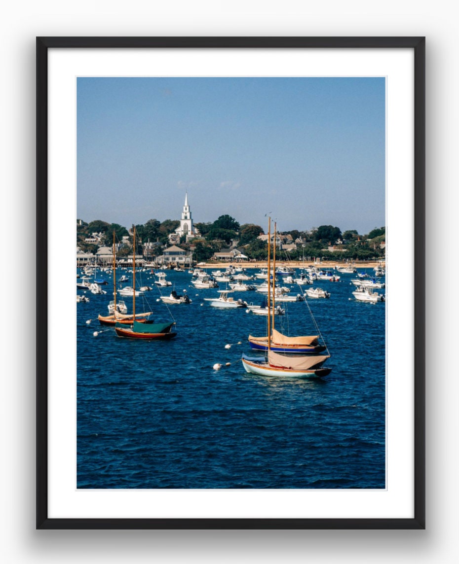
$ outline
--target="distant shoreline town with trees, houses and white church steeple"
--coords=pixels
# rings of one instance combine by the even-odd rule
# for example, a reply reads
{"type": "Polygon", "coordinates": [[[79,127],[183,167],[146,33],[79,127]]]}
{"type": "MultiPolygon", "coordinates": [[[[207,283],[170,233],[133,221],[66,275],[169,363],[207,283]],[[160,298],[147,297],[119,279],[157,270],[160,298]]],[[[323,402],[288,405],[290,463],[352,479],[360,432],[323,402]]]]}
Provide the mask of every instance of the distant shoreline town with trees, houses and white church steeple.
{"type": "MultiPolygon", "coordinates": [[[[134,226],[77,219],[76,227],[77,266],[112,264],[113,252],[117,265],[133,262],[134,226]]],[[[144,266],[257,262],[268,257],[268,235],[261,226],[241,225],[230,215],[220,215],[214,222],[194,223],[187,194],[181,219],[149,219],[135,226],[135,236],[135,261],[144,266]]],[[[273,223],[270,243],[272,248],[276,244],[281,261],[381,260],[386,255],[386,228],[375,227],[364,235],[356,230],[341,232],[339,227],[321,225],[305,231],[276,232],[274,236],[273,223]]]]}

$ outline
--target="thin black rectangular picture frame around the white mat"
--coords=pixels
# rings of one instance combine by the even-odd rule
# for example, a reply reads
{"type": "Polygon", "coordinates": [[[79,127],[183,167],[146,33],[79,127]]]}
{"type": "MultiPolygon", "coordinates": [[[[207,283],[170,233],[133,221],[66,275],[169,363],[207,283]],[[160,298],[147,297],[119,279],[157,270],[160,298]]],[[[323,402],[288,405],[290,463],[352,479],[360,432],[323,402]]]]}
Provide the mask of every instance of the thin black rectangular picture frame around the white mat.
{"type": "Polygon", "coordinates": [[[48,49],[411,49],[414,51],[414,508],[413,518],[49,518],[47,468],[47,271],[37,269],[37,529],[425,528],[425,37],[37,37],[37,264],[47,265],[48,49]],[[45,234],[45,235],[43,235],[45,234]]]}

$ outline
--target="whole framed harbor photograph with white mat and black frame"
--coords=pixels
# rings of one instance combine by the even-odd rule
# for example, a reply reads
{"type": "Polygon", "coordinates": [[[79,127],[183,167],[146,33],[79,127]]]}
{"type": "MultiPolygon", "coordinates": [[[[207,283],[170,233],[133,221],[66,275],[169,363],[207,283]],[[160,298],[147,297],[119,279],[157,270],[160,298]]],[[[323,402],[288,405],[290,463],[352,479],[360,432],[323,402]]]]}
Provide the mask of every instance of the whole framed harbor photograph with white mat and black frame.
{"type": "Polygon", "coordinates": [[[425,528],[425,38],[38,37],[37,265],[38,529],[425,528]]]}

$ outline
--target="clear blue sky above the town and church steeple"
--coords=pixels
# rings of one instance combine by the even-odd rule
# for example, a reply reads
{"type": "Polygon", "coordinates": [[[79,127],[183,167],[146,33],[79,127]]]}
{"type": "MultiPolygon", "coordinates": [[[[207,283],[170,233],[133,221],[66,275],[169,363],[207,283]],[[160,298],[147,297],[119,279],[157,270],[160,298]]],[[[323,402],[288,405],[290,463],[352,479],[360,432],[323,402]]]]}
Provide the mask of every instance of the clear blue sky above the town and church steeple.
{"type": "Polygon", "coordinates": [[[385,223],[384,78],[78,78],[77,217],[385,223]]]}

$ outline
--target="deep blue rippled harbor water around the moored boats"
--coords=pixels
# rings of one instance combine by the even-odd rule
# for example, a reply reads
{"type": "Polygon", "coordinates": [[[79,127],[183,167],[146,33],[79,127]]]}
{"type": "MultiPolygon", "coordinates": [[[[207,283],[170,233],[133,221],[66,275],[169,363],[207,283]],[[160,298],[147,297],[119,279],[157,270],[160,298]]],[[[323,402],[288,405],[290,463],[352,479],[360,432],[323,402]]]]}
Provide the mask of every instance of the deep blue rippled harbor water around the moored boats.
{"type": "MultiPolygon", "coordinates": [[[[193,303],[168,309],[154,276],[141,276],[155,321],[176,321],[171,341],[120,338],[99,324],[113,298],[105,272],[97,277],[107,294],[86,292],[89,303],[76,305],[78,488],[385,487],[386,306],[357,302],[355,276],[317,281],[331,297],[308,299],[331,354],[321,380],[248,374],[241,355],[251,354],[249,334],[266,334],[264,316],[209,306],[203,298],[217,289],[195,289],[187,271],[167,279],[193,303]]],[[[263,301],[258,292],[233,296],[263,301]]],[[[121,299],[132,312],[132,298],[121,299]]],[[[306,303],[282,307],[277,329],[317,334],[306,303]]],[[[137,311],[151,309],[136,299],[137,311]]]]}

